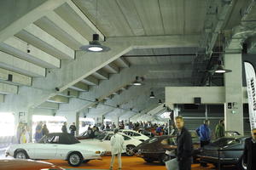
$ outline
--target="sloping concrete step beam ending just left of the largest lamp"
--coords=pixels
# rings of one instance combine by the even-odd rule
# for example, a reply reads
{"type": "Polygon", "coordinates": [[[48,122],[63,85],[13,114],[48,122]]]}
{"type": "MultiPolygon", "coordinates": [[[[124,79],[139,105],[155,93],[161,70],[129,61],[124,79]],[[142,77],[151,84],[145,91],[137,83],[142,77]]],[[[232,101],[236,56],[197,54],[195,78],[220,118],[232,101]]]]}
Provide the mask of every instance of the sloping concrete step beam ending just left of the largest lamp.
{"type": "MultiPolygon", "coordinates": [[[[71,2],[71,1],[69,1],[71,2]]],[[[79,31],[76,31],[72,25],[69,25],[66,20],[62,19],[60,15],[56,14],[54,11],[46,14],[47,18],[59,26],[63,31],[67,32],[67,35],[73,37],[80,45],[89,44],[88,40],[85,39],[79,31]]]]}

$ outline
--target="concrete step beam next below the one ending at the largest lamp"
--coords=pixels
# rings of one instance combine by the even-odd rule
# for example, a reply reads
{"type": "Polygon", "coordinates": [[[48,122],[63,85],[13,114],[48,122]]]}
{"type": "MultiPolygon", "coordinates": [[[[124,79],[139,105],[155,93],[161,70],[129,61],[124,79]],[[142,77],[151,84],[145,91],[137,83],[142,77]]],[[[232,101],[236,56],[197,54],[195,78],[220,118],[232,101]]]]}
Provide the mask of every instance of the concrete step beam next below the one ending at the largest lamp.
{"type": "Polygon", "coordinates": [[[21,40],[40,48],[58,59],[74,59],[74,50],[72,48],[67,47],[64,43],[34,24],[15,34],[15,37],[19,37],[21,40]]]}

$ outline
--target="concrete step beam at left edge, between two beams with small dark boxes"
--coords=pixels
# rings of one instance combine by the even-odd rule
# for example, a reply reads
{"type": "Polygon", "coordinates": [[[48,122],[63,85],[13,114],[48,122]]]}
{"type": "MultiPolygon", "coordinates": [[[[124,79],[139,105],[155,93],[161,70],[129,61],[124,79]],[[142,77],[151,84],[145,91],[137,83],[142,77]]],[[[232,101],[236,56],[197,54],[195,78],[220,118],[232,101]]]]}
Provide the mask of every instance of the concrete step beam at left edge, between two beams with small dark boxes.
{"type": "Polygon", "coordinates": [[[45,69],[0,51],[0,66],[30,77],[45,77],[45,69]]]}

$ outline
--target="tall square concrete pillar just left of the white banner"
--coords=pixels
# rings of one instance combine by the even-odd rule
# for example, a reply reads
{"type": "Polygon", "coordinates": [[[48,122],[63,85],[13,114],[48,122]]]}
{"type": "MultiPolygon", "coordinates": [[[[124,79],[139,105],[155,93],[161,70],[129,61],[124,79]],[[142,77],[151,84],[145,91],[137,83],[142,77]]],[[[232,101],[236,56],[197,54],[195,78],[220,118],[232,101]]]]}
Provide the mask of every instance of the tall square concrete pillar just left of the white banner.
{"type": "Polygon", "coordinates": [[[232,70],[232,72],[224,74],[225,130],[233,130],[243,134],[241,54],[225,54],[224,65],[226,69],[232,70]]]}

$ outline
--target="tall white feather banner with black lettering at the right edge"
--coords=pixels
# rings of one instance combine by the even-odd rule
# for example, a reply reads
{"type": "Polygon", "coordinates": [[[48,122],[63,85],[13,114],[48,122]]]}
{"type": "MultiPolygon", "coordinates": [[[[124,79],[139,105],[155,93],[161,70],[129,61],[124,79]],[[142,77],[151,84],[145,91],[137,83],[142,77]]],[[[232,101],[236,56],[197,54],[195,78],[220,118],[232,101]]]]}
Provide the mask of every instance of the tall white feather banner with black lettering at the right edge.
{"type": "Polygon", "coordinates": [[[256,128],[256,77],[253,65],[245,62],[245,71],[247,78],[247,94],[248,94],[248,105],[249,105],[249,116],[251,129],[256,128]]]}

